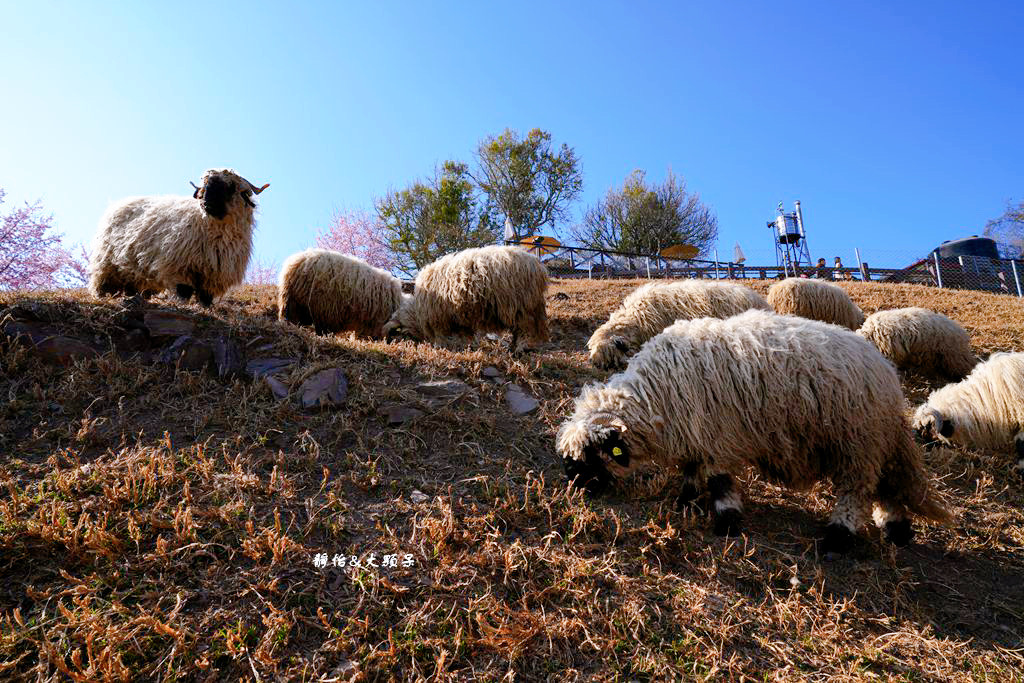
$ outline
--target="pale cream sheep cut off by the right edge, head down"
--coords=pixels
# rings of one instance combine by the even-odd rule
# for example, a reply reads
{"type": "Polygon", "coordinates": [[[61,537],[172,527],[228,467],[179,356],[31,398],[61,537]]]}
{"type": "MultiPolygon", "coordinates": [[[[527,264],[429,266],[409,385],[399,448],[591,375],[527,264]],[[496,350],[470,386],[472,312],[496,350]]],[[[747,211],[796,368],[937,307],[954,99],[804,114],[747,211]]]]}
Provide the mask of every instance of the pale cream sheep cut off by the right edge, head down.
{"type": "Polygon", "coordinates": [[[993,353],[961,382],[933,391],[913,415],[919,441],[1005,449],[1024,476],[1024,353],[993,353]]]}

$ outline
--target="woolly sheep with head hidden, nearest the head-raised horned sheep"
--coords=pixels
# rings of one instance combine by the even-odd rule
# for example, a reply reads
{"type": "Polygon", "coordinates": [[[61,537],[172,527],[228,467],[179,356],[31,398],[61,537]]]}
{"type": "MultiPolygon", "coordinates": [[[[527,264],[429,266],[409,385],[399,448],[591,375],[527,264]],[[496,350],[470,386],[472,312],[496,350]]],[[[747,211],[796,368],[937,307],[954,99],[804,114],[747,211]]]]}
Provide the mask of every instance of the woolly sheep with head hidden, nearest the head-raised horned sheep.
{"type": "Polygon", "coordinates": [[[401,281],[390,272],[355,256],[307,249],[288,257],[281,270],[278,317],[311,325],[316,334],[380,338],[401,299],[401,281]]]}

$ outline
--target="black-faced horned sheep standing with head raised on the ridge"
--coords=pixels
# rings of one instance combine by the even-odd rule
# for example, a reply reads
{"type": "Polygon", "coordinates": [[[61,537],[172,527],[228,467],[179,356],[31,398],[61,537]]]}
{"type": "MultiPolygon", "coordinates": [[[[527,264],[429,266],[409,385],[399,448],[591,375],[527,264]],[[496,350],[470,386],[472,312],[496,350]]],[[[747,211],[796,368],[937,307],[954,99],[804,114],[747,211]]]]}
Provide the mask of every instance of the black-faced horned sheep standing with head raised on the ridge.
{"type": "Polygon", "coordinates": [[[245,278],[251,198],[267,186],[211,169],[191,198],[137,197],[111,205],[93,242],[89,290],[99,297],[174,289],[184,301],[195,294],[211,305],[245,278]]]}

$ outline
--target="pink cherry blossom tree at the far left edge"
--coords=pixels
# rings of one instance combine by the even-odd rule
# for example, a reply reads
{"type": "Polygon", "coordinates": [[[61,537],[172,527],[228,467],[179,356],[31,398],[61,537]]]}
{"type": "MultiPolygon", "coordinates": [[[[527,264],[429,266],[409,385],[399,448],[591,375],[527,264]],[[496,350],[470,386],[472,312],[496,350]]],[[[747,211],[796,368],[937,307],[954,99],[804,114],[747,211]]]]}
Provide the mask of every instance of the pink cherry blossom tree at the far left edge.
{"type": "MultiPolygon", "coordinates": [[[[0,187],[0,205],[6,193],[0,187]]],[[[85,285],[89,257],[84,247],[76,256],[53,231],[52,214],[42,203],[25,203],[0,213],[0,289],[35,290],[85,285]]]]}

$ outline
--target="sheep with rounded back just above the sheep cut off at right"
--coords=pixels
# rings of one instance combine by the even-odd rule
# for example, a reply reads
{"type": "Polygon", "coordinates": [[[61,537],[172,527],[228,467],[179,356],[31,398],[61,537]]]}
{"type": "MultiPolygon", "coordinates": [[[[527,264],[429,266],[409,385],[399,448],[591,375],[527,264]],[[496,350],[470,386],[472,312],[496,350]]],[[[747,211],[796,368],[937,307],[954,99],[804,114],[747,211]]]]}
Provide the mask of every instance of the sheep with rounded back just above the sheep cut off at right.
{"type": "Polygon", "coordinates": [[[967,331],[927,308],[880,310],[867,316],[857,334],[897,368],[959,380],[978,365],[967,331]]]}

